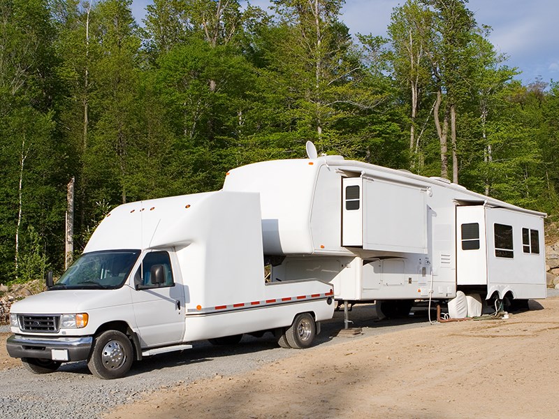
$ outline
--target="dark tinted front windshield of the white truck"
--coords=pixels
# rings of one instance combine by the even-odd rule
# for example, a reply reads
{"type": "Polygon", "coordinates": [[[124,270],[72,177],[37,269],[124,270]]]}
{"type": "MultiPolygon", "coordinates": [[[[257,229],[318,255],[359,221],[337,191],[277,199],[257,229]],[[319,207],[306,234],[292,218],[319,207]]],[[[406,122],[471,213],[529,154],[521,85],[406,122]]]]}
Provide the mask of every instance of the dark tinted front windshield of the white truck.
{"type": "Polygon", "coordinates": [[[51,289],[119,288],[128,278],[139,250],[84,253],[51,289]]]}

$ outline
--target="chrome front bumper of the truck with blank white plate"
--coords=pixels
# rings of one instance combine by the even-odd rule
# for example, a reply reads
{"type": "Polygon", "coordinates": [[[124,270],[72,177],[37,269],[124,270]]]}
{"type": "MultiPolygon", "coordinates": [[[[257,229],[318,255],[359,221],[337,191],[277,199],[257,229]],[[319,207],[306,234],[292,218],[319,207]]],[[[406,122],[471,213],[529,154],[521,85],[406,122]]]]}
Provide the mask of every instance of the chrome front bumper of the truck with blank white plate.
{"type": "Polygon", "coordinates": [[[12,358],[41,358],[62,361],[87,360],[92,345],[93,337],[91,336],[38,337],[12,335],[6,341],[6,349],[12,358]]]}

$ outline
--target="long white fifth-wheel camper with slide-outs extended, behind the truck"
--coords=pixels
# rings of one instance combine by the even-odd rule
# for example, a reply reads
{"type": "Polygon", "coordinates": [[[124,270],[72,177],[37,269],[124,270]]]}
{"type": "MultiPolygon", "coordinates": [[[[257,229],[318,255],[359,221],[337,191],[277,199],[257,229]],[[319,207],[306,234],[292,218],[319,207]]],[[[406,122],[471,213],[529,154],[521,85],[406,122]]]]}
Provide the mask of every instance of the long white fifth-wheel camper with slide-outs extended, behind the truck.
{"type": "Polygon", "coordinates": [[[225,191],[260,194],[272,281],[316,277],[336,300],[375,300],[389,316],[458,291],[507,304],[546,297],[545,214],[313,148],[226,176],[225,191]]]}

